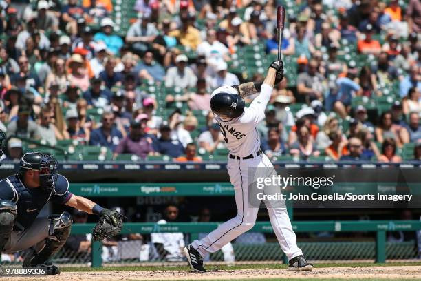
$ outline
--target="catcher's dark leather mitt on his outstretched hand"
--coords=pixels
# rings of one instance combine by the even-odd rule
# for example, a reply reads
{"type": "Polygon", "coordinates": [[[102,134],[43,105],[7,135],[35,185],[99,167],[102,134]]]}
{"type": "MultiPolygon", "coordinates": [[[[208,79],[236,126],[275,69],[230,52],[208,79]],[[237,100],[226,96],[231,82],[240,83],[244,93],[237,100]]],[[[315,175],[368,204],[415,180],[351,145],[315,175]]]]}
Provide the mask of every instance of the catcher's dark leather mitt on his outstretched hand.
{"type": "Polygon", "coordinates": [[[94,241],[100,241],[105,238],[116,236],[122,228],[122,215],[117,211],[103,209],[100,219],[94,229],[92,229],[92,238],[94,241]]]}

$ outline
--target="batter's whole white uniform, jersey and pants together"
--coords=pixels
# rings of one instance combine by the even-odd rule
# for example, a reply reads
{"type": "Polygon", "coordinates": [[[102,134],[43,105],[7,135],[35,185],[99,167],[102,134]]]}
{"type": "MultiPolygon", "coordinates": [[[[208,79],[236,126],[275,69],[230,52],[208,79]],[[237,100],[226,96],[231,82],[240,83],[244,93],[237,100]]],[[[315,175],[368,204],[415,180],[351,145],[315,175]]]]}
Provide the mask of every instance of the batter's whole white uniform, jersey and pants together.
{"type": "MultiPolygon", "coordinates": [[[[226,146],[230,153],[241,157],[228,158],[226,166],[235,190],[237,216],[219,225],[217,229],[204,238],[191,243],[191,246],[199,251],[203,257],[208,255],[208,253],[215,253],[215,251],[222,249],[228,242],[252,229],[253,225],[255,225],[259,208],[249,205],[248,184],[253,178],[249,178],[248,169],[250,167],[268,167],[269,169],[273,167],[264,153],[255,154],[260,149],[260,138],[256,126],[265,118],[265,109],[270,100],[272,90],[272,87],[263,84],[260,94],[252,101],[250,107],[244,109],[243,114],[238,118],[226,122],[219,116],[215,116],[217,122],[221,125],[221,131],[224,134],[226,146]],[[250,154],[253,154],[252,158],[243,158],[250,154]]],[[[238,94],[235,88],[223,86],[215,90],[212,96],[221,92],[238,94]]],[[[235,107],[237,105],[233,103],[232,106],[235,107]]],[[[289,260],[302,255],[303,252],[296,244],[296,236],[292,230],[286,208],[272,207],[270,202],[266,204],[266,207],[268,207],[270,223],[282,251],[289,260]]]]}

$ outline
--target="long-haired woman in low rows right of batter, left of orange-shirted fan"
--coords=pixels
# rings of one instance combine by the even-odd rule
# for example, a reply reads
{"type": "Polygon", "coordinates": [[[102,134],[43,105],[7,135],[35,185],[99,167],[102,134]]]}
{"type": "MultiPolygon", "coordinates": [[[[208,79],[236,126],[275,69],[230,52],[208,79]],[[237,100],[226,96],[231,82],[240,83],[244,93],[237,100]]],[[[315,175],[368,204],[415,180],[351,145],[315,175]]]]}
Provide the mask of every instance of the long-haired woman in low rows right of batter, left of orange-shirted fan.
{"type": "Polygon", "coordinates": [[[310,130],[306,126],[297,127],[297,140],[290,146],[290,154],[299,160],[307,160],[310,156],[319,156],[310,130]]]}

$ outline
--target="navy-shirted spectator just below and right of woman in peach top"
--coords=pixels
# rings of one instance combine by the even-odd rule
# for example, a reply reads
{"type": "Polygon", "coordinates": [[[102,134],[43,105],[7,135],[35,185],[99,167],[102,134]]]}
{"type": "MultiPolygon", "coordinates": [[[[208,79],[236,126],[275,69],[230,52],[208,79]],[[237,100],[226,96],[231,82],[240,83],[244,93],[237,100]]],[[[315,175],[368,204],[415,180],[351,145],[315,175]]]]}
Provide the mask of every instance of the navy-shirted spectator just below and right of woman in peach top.
{"type": "Polygon", "coordinates": [[[102,85],[100,78],[91,79],[91,87],[83,93],[83,98],[90,107],[104,108],[111,103],[111,92],[102,85]]]}

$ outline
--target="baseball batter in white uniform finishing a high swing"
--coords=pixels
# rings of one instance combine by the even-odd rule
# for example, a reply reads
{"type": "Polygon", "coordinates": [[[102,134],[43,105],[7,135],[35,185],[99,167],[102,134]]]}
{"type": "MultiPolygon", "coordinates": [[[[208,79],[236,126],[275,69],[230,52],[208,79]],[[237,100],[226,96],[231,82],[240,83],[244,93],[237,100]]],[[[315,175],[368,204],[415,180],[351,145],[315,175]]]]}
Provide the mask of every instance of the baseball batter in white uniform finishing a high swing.
{"type": "MultiPolygon", "coordinates": [[[[273,167],[269,158],[260,149],[257,125],[265,118],[266,105],[272,95],[275,83],[283,79],[283,62],[274,61],[263,84],[244,83],[233,87],[216,89],[210,99],[210,108],[229,149],[228,174],[235,188],[237,216],[219,225],[202,240],[195,240],[184,248],[191,269],[206,272],[203,257],[214,253],[226,243],[255,225],[258,208],[248,204],[248,169],[250,167],[273,167]],[[244,97],[259,93],[250,107],[245,107],[244,97]]],[[[312,271],[303,252],[296,244],[296,236],[286,208],[268,208],[270,223],[277,236],[282,251],[288,256],[290,271],[312,271]]]]}

